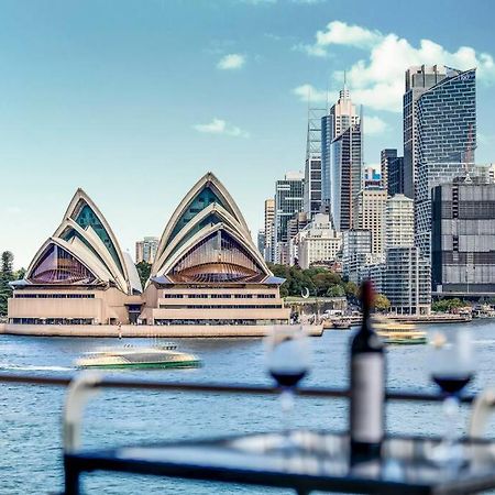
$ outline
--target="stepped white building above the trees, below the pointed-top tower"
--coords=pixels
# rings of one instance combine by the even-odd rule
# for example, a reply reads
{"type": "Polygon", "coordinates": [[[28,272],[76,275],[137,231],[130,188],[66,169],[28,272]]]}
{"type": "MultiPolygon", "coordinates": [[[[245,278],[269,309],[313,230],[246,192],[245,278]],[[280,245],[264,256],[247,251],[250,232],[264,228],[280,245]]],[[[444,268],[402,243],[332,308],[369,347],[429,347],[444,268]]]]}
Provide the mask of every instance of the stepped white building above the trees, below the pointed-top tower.
{"type": "Polygon", "coordinates": [[[297,243],[299,266],[309,268],[314,263],[330,263],[336,261],[342,249],[342,237],[336,232],[330,222],[330,216],[317,213],[311,223],[294,238],[297,243]]]}

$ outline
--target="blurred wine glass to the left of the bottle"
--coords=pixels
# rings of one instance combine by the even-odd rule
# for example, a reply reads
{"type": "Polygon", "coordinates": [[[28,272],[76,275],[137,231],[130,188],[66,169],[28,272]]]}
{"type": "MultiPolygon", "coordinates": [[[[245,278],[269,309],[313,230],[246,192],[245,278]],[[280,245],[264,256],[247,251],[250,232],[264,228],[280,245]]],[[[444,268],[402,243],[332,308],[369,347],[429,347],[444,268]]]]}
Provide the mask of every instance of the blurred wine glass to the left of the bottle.
{"type": "Polygon", "coordinates": [[[270,374],[280,387],[280,406],[285,447],[290,443],[290,414],[294,410],[294,391],[309,371],[309,342],[301,326],[274,326],[266,338],[266,364],[270,374]]]}

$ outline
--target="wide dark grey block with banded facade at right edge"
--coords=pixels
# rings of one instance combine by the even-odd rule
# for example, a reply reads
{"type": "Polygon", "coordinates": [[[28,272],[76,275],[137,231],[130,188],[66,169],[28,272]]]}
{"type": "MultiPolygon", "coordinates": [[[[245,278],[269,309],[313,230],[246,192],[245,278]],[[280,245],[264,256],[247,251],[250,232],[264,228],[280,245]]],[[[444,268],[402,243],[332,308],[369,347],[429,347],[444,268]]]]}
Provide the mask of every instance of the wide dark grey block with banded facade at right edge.
{"type": "Polygon", "coordinates": [[[495,294],[495,184],[458,179],[432,191],[433,290],[495,294]]]}

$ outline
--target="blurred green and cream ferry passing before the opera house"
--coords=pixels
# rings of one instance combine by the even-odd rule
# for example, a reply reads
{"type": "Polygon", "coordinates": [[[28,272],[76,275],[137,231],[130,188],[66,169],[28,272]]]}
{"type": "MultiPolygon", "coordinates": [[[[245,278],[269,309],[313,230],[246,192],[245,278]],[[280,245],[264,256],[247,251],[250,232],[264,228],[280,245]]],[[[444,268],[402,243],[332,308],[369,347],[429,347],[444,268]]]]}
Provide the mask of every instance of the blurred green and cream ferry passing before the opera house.
{"type": "Polygon", "coordinates": [[[140,369],[198,367],[201,361],[194,354],[177,351],[173,343],[156,346],[123,345],[88,352],[76,360],[79,369],[140,369]]]}

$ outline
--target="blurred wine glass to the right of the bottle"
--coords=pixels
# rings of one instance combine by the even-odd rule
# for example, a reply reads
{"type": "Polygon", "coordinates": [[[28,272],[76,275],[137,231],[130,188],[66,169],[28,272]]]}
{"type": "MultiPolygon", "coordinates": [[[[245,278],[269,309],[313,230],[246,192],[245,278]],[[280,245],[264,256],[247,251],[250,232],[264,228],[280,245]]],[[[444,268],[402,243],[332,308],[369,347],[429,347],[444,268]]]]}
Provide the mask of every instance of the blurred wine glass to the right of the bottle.
{"type": "Polygon", "coordinates": [[[430,375],[444,395],[446,417],[443,440],[435,450],[433,459],[455,468],[462,463],[458,443],[459,395],[473,378],[475,370],[471,331],[459,328],[437,332],[430,343],[430,375]]]}

